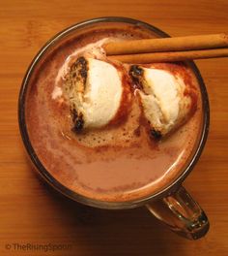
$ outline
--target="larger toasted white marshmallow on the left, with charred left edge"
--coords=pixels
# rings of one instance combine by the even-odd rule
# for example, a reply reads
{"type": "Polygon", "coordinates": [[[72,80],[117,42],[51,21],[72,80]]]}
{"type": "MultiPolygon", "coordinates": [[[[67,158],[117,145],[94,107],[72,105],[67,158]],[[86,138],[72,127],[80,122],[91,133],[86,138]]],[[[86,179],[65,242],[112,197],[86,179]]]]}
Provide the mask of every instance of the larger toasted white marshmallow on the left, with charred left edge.
{"type": "Polygon", "coordinates": [[[79,57],[66,79],[75,131],[100,128],[117,114],[122,100],[122,75],[111,64],[79,57]]]}

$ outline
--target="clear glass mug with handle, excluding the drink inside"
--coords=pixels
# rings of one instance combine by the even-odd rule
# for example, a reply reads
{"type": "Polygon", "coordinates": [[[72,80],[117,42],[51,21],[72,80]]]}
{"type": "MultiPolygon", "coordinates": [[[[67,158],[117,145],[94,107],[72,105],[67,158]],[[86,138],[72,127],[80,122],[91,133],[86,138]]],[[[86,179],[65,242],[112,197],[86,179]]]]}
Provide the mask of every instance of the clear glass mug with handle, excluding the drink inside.
{"type": "Polygon", "coordinates": [[[120,24],[128,23],[132,26],[137,26],[139,29],[140,27],[147,29],[151,31],[151,33],[153,33],[156,37],[168,37],[166,33],[162,32],[161,30],[148,23],[127,17],[94,18],[72,25],[70,28],[67,28],[57,34],[54,38],[47,42],[46,45],[36,55],[30,67],[28,68],[28,71],[21,85],[18,99],[18,121],[23,143],[30,156],[30,159],[37,168],[39,174],[42,175],[44,179],[56,190],[70,197],[72,200],[91,207],[107,209],[136,208],[140,206],[145,206],[152,212],[153,215],[157,217],[157,219],[166,224],[175,233],[190,240],[200,239],[201,237],[205,236],[209,230],[208,218],[204,213],[203,209],[200,208],[200,206],[192,199],[192,197],[186,192],[185,188],[182,186],[185,177],[191,172],[201,155],[209,131],[210,109],[208,94],[204,82],[200,76],[200,73],[193,62],[188,62],[187,64],[190,65],[196,79],[199,82],[202,95],[203,125],[201,135],[199,137],[198,144],[195,147],[195,151],[191,155],[191,159],[185,165],[185,168],[181,175],[178,176],[171,183],[167,184],[166,187],[163,187],[156,194],[149,195],[148,197],[141,198],[137,201],[119,203],[92,200],[90,198],[86,198],[82,195],[76,194],[74,191],[71,191],[68,187],[61,184],[57,179],[51,176],[47,170],[45,170],[42,162],[36,155],[33,145],[30,143],[25,121],[25,95],[27,87],[29,85],[31,74],[33,73],[36,66],[39,65],[49,48],[55,48],[56,46],[58,46],[58,44],[61,43],[62,39],[70,37],[76,30],[93,27],[95,25],[107,25],[112,22],[119,22],[120,24]]]}

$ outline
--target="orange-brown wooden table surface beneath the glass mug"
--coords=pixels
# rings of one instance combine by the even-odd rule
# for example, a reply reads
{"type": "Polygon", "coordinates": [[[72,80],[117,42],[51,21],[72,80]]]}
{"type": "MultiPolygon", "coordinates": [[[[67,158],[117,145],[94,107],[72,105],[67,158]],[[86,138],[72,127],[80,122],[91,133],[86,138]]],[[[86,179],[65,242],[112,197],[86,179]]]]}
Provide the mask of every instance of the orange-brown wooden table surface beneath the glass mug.
{"type": "Polygon", "coordinates": [[[181,36],[227,32],[227,14],[227,0],[1,2],[0,255],[228,255],[228,58],[196,62],[210,95],[211,130],[185,186],[211,221],[202,240],[178,237],[145,208],[93,209],[57,194],[33,172],[16,116],[20,83],[33,56],[75,22],[129,16],[181,36]],[[43,248],[26,251],[27,243],[43,248]],[[45,252],[48,243],[65,244],[65,250],[45,252]]]}

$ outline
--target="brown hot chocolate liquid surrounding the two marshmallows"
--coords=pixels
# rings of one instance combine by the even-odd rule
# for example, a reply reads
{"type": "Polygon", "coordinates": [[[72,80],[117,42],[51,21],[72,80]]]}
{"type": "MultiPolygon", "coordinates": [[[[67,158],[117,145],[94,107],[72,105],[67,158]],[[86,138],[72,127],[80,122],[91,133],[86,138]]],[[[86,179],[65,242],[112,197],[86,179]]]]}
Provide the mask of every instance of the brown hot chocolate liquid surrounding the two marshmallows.
{"type": "MultiPolygon", "coordinates": [[[[79,30],[48,52],[35,69],[26,95],[25,114],[31,144],[52,176],[78,194],[121,202],[153,194],[183,172],[201,133],[202,107],[198,89],[194,115],[159,143],[149,138],[143,125],[139,126],[140,109],[135,98],[124,123],[87,135],[73,134],[68,106],[51,97],[58,71],[75,49],[113,36],[155,37],[146,29],[124,23],[79,30]]],[[[184,64],[155,67],[182,73],[198,88],[194,75],[184,64]]]]}

